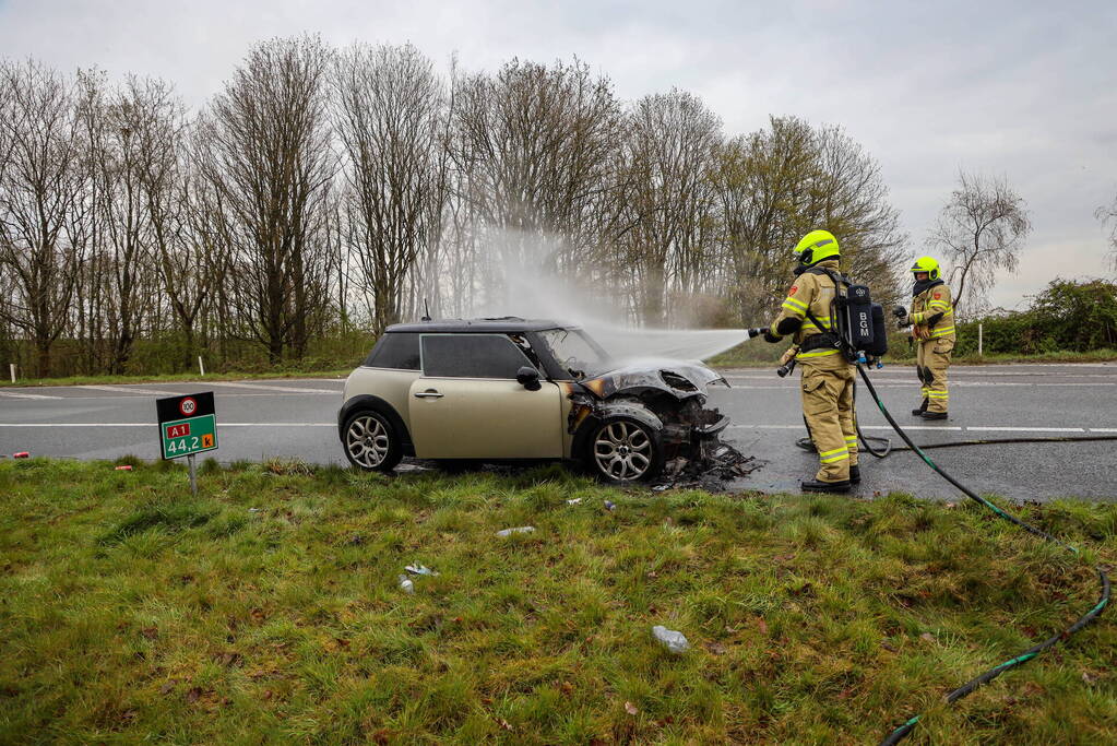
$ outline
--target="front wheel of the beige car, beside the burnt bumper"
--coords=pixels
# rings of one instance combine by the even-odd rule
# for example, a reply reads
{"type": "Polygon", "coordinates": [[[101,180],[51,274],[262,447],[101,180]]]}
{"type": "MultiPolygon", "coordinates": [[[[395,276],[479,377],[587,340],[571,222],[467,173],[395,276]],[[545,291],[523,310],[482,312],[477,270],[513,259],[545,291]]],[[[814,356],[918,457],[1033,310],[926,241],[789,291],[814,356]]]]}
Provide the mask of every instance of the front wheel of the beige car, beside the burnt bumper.
{"type": "Polygon", "coordinates": [[[589,450],[588,466],[610,484],[647,481],[663,469],[659,433],[631,418],[610,418],[595,425],[589,450]]]}

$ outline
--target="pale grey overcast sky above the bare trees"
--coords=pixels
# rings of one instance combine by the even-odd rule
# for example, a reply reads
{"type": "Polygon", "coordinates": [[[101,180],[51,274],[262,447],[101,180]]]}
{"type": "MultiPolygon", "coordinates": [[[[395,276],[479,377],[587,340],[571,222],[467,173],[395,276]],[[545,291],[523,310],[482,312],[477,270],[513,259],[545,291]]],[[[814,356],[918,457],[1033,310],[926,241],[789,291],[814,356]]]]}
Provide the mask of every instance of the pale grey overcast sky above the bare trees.
{"type": "Polygon", "coordinates": [[[994,305],[1109,275],[1094,211],[1117,194],[1117,2],[0,0],[0,55],[172,80],[198,106],[255,41],[411,41],[441,67],[577,56],[621,98],[672,86],[748,132],[843,126],[880,162],[913,249],[960,168],[1008,176],[1034,233],[994,305]]]}

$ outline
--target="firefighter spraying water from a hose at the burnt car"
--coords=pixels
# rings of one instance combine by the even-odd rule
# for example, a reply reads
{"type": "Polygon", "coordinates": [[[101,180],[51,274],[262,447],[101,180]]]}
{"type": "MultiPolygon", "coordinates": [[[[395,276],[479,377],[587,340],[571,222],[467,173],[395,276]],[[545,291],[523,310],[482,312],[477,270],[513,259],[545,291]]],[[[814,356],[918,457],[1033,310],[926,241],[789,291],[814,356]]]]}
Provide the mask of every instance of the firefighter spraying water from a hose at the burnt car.
{"type": "Polygon", "coordinates": [[[802,370],[803,420],[819,452],[819,471],[801,488],[848,492],[851,484],[861,481],[861,474],[853,421],[853,366],[839,350],[836,332],[830,331],[830,304],[840,277],[838,239],[829,231],[811,231],[795,247],[795,256],[796,279],[764,338],[776,343],[794,334],[799,348],[795,361],[802,370]],[[806,318],[808,309],[822,328],[806,318]]]}

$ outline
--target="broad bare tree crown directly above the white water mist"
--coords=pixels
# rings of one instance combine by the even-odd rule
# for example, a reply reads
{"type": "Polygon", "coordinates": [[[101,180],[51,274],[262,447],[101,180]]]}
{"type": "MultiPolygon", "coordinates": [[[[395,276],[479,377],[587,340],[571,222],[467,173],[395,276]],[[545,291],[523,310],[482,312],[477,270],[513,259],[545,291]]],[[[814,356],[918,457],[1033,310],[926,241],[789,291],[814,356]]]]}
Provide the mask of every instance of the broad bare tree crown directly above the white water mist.
{"type": "Polygon", "coordinates": [[[494,76],[461,80],[458,99],[460,194],[498,245],[480,262],[577,271],[604,240],[607,213],[596,207],[615,189],[623,118],[608,78],[577,60],[514,59],[494,76]]]}

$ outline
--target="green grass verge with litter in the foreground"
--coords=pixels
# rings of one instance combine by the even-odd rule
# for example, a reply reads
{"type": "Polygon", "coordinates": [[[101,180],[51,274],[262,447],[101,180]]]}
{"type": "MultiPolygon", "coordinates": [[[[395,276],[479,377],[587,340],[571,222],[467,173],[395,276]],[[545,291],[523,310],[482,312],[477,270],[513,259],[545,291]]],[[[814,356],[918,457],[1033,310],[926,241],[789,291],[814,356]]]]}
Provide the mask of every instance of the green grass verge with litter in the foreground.
{"type": "MultiPolygon", "coordinates": [[[[0,743],[1117,740],[1106,616],[939,704],[1097,593],[968,503],[130,462],[0,461],[0,743]]],[[[1113,504],[1022,513],[1117,557],[1113,504]]]]}

